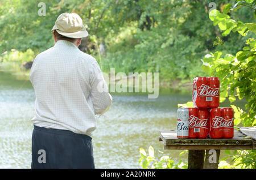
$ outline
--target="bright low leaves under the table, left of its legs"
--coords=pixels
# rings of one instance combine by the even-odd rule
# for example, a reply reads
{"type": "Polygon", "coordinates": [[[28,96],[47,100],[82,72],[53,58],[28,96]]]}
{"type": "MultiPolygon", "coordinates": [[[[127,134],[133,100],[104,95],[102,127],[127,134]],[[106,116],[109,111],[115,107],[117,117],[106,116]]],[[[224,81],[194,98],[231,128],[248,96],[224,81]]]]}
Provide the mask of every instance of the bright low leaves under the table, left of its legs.
{"type": "MultiPolygon", "coordinates": [[[[143,169],[187,169],[188,165],[184,164],[182,160],[175,162],[170,159],[169,156],[162,156],[160,157],[160,160],[155,160],[155,152],[154,148],[150,146],[148,148],[148,156],[144,149],[140,148],[139,152],[141,153],[141,158],[139,159],[139,165],[143,169]]],[[[181,152],[180,155],[184,153],[181,152]]]]}

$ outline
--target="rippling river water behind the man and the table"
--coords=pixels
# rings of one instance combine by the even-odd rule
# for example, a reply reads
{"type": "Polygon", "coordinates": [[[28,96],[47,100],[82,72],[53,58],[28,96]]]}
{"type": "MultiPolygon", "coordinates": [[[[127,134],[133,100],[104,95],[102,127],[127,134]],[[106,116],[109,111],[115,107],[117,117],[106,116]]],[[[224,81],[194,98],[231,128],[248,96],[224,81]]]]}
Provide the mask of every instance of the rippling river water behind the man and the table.
{"type": "MultiPolygon", "coordinates": [[[[155,149],[187,162],[187,153],[164,150],[159,131],[176,128],[177,104],[191,101],[190,92],[164,92],[156,99],[140,93],[112,93],[109,111],[97,119],[92,136],[96,168],[140,168],[139,148],[155,149]]],[[[0,168],[31,167],[31,135],[35,93],[29,80],[0,71],[0,168]]],[[[243,104],[241,102],[241,104],[243,104]]],[[[221,157],[225,156],[221,151],[221,157]]]]}

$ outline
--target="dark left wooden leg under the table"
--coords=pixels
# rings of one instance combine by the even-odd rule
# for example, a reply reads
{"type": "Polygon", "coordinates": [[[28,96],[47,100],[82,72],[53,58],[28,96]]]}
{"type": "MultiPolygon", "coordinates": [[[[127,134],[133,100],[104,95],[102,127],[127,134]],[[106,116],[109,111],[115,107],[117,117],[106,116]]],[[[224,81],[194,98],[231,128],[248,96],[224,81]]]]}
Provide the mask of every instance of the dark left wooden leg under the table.
{"type": "Polygon", "coordinates": [[[188,169],[203,169],[204,154],[204,150],[188,150],[188,169]]]}

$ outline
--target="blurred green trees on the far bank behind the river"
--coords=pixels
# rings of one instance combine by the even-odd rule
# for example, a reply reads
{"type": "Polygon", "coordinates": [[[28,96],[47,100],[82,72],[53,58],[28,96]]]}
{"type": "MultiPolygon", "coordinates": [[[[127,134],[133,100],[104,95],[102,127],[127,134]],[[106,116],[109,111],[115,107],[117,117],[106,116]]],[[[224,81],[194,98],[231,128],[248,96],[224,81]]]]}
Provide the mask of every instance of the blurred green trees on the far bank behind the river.
{"type": "MultiPolygon", "coordinates": [[[[11,49],[26,52],[30,48],[36,55],[48,49],[54,44],[50,30],[57,16],[63,12],[76,12],[89,32],[85,39],[87,53],[101,61],[105,72],[109,72],[110,67],[126,74],[154,71],[159,72],[162,81],[170,83],[175,79],[205,76],[207,73],[199,68],[202,65],[199,59],[205,53],[212,50],[237,52],[246,39],[234,34],[234,28],[241,33],[247,32],[245,26],[254,29],[247,22],[237,23],[234,27],[231,18],[229,22],[223,21],[232,8],[241,6],[228,4],[224,7],[228,0],[217,3],[217,8],[226,13],[217,13],[220,27],[226,28],[225,33],[234,27],[232,33],[225,36],[225,46],[220,45],[221,41],[212,45],[220,32],[208,18],[210,0],[47,0],[44,1],[46,16],[38,16],[39,2],[0,2],[0,53],[11,49]],[[241,43],[236,43],[237,40],[241,43]],[[106,54],[100,57],[97,47],[101,41],[105,42],[106,54]]],[[[237,12],[241,22],[253,18],[242,8],[237,12]]]]}

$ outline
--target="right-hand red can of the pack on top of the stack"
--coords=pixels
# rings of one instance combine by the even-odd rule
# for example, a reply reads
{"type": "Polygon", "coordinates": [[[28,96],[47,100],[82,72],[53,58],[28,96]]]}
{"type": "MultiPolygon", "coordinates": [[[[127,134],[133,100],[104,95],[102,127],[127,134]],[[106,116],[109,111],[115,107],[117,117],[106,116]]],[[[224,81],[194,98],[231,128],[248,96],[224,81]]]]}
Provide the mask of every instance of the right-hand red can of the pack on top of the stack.
{"type": "Polygon", "coordinates": [[[209,88],[209,108],[218,108],[220,106],[220,79],[216,77],[209,78],[210,88],[209,88]]]}

